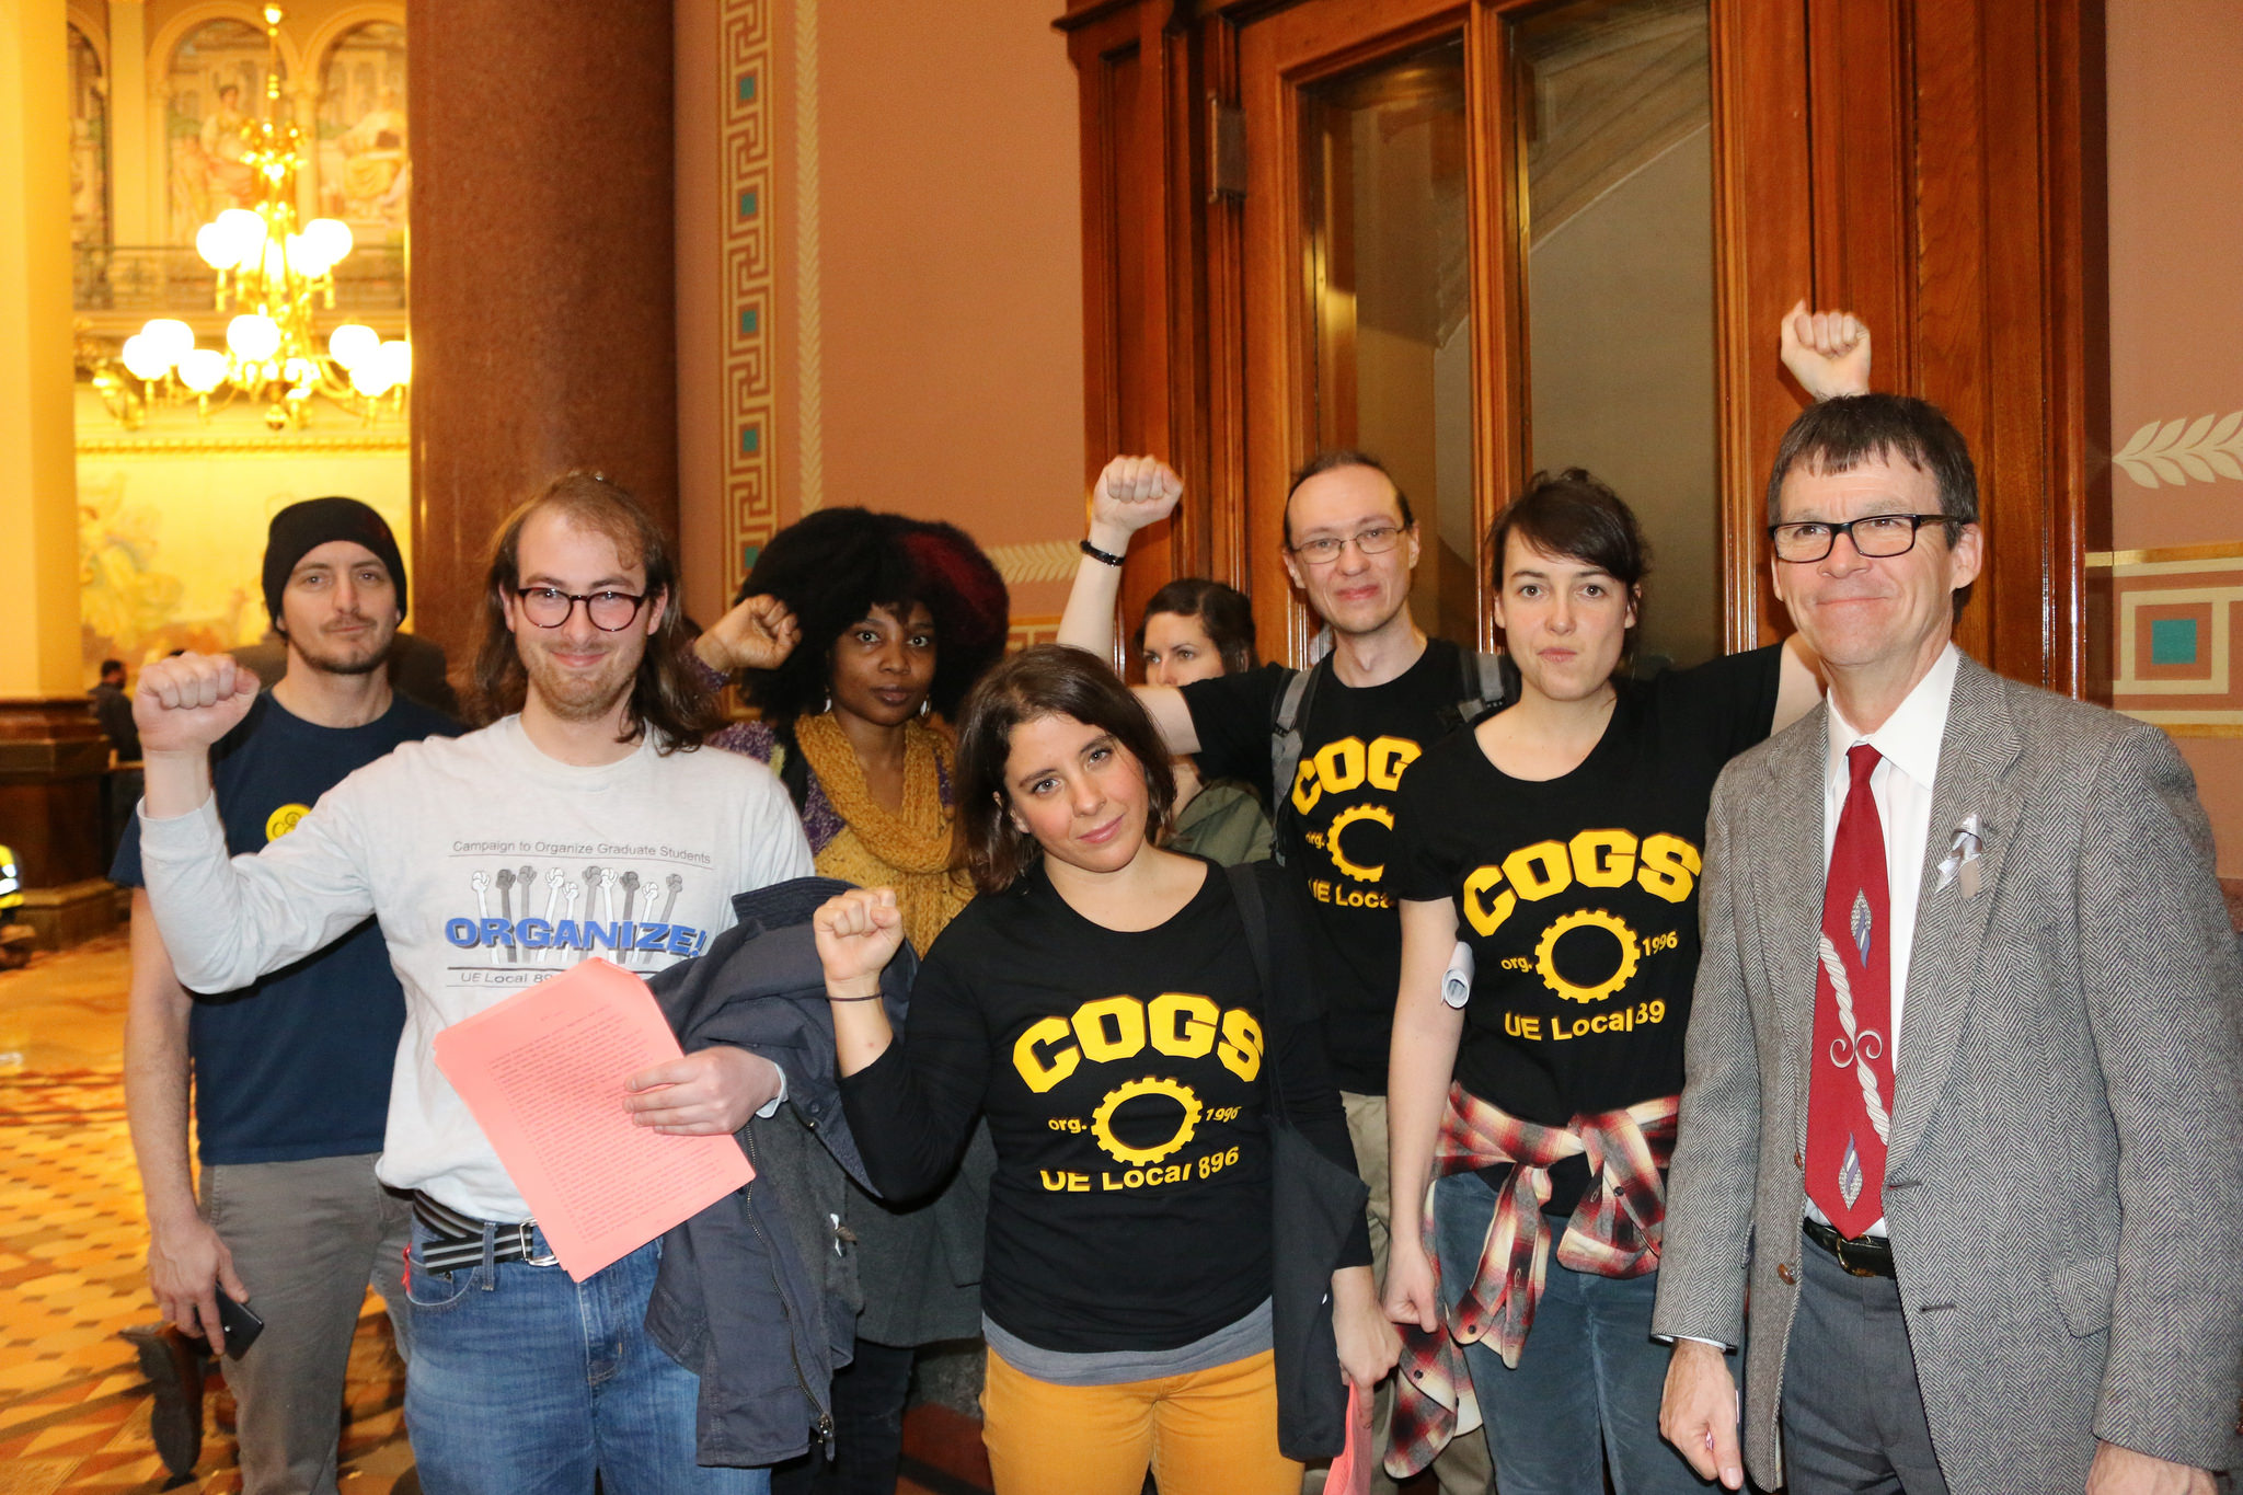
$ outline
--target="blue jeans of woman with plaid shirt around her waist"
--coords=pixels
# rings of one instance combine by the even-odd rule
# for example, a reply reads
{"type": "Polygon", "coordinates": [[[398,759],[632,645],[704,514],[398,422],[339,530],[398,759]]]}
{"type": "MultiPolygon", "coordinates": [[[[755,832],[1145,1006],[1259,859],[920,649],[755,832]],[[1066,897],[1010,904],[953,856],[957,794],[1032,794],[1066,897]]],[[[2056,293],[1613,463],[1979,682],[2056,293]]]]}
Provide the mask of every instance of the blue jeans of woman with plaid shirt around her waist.
{"type": "MultiPolygon", "coordinates": [[[[1471,1282],[1494,1215],[1496,1190],[1476,1172],[1433,1186],[1444,1296],[1471,1282]]],[[[1550,1226],[1563,1231],[1559,1222],[1550,1226]]],[[[1465,1347],[1503,1495],[1602,1495],[1606,1457],[1617,1495],[1709,1488],[1660,1439],[1667,1345],[1651,1338],[1655,1293],[1658,1273],[1597,1278],[1561,1266],[1552,1239],[1519,1369],[1503,1365],[1494,1345],[1465,1347]]]]}

